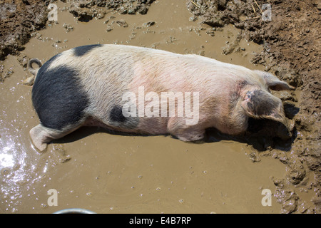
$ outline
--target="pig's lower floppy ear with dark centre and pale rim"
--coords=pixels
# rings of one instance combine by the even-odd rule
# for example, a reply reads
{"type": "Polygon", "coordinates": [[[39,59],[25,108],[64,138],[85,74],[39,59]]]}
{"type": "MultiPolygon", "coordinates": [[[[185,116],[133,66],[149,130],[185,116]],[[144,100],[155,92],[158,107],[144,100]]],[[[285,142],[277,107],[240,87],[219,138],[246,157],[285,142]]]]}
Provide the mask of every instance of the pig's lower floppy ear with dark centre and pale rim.
{"type": "Polygon", "coordinates": [[[267,118],[283,122],[282,101],[264,90],[250,90],[241,102],[245,113],[252,118],[267,118]]]}

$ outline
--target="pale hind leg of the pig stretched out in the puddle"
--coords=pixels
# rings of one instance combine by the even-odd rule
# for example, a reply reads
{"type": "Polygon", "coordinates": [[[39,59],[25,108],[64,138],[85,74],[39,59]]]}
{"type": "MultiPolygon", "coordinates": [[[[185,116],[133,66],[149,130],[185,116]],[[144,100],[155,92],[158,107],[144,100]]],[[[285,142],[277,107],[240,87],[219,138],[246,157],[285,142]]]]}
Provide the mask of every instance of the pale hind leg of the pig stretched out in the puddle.
{"type": "Polygon", "coordinates": [[[46,150],[47,143],[51,140],[58,138],[63,138],[63,136],[68,135],[74,130],[78,129],[81,125],[76,125],[71,128],[66,128],[65,130],[55,130],[46,128],[43,125],[39,124],[36,127],[30,130],[31,141],[40,152],[46,150]]]}

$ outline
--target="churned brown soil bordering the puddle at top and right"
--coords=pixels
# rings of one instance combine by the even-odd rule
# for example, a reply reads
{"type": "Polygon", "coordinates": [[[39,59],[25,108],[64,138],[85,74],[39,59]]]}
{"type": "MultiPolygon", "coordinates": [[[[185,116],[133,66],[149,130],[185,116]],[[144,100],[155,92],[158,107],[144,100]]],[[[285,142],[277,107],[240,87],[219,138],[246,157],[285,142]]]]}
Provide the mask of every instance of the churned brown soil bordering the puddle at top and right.
{"type": "MultiPolygon", "coordinates": [[[[321,4],[317,0],[256,2],[259,6],[272,6],[272,21],[261,19],[255,1],[195,0],[186,1],[186,6],[194,15],[190,20],[206,24],[204,29],[208,34],[215,36],[215,31],[226,24],[242,29],[243,38],[263,46],[263,51],[257,53],[252,62],[296,86],[294,93],[277,93],[284,101],[287,117],[295,122],[291,141],[276,145],[265,141],[257,148],[259,152],[250,157],[259,161],[260,157],[272,156],[286,165],[285,178],[273,178],[277,187],[275,197],[282,204],[282,212],[320,213],[321,4]],[[314,192],[312,199],[300,197],[298,191],[307,190],[314,192]]],[[[77,1],[68,11],[78,21],[90,21],[102,18],[109,10],[121,14],[146,14],[152,3],[153,0],[77,1]]],[[[9,54],[19,55],[34,31],[46,26],[48,4],[49,1],[39,0],[0,0],[1,60],[9,54]]],[[[231,46],[226,53],[234,51],[233,43],[231,46]]],[[[26,61],[21,57],[24,66],[26,61]]],[[[4,71],[0,63],[0,81],[4,82],[10,75],[11,71],[4,71]]]]}

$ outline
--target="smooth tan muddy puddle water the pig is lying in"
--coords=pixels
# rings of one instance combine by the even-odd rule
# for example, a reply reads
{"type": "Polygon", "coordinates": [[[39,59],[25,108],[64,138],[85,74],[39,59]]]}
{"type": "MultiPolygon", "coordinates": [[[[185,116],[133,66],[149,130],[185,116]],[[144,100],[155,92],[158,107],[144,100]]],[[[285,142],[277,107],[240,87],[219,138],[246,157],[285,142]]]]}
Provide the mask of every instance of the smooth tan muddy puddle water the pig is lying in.
{"type": "MultiPolygon", "coordinates": [[[[57,4],[60,9],[67,6],[57,4]]],[[[146,15],[111,11],[89,22],[58,10],[58,24],[34,34],[22,53],[44,63],[75,46],[118,43],[196,53],[260,69],[250,63],[260,47],[245,40],[235,43],[236,28],[228,26],[210,36],[208,28],[190,21],[190,16],[185,1],[169,0],[156,1],[146,15]],[[119,26],[121,20],[126,27],[119,26]],[[155,24],[146,26],[148,21],[155,24]],[[67,31],[63,24],[73,29],[67,31]],[[224,55],[224,50],[231,53],[224,55]]],[[[111,135],[81,128],[51,143],[46,152],[36,152],[29,130],[39,120],[31,87],[21,85],[30,74],[16,56],[9,56],[4,65],[13,73],[0,84],[0,213],[51,213],[71,207],[98,213],[280,213],[273,196],[272,206],[263,207],[261,192],[275,192],[271,177],[283,177],[285,166],[272,157],[253,162],[249,155],[255,150],[244,143],[193,144],[170,136],[111,135]],[[58,192],[58,206],[48,202],[51,189],[58,192]]]]}

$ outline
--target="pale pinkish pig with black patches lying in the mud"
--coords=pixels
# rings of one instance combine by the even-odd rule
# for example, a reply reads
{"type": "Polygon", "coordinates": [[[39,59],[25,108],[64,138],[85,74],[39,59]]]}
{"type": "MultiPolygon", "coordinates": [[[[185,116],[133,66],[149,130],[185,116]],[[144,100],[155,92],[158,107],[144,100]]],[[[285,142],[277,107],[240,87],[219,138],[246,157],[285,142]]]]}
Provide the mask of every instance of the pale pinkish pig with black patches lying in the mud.
{"type": "MultiPolygon", "coordinates": [[[[35,77],[31,96],[40,120],[30,130],[30,137],[39,151],[81,126],[197,141],[205,137],[207,128],[243,134],[249,118],[286,124],[282,102],[270,90],[294,89],[265,71],[194,54],[127,45],[79,46],[58,53],[42,66],[31,59],[28,66],[35,77]],[[129,101],[123,95],[138,95],[142,87],[144,93],[154,95],[198,92],[197,123],[186,124],[191,117],[185,115],[124,115],[123,106],[129,101]]],[[[131,102],[136,105],[135,100],[131,102]]]]}

